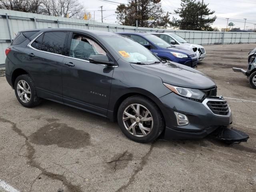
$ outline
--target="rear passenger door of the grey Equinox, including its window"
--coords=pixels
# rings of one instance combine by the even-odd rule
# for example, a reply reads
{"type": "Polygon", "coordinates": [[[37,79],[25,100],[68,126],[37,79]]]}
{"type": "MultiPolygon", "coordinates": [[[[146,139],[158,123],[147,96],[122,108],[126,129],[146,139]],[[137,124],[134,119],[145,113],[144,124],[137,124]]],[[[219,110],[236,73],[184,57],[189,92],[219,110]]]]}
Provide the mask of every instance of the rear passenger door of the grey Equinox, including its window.
{"type": "Polygon", "coordinates": [[[62,102],[62,61],[69,32],[40,34],[25,48],[23,64],[29,69],[38,96],[62,102]]]}

